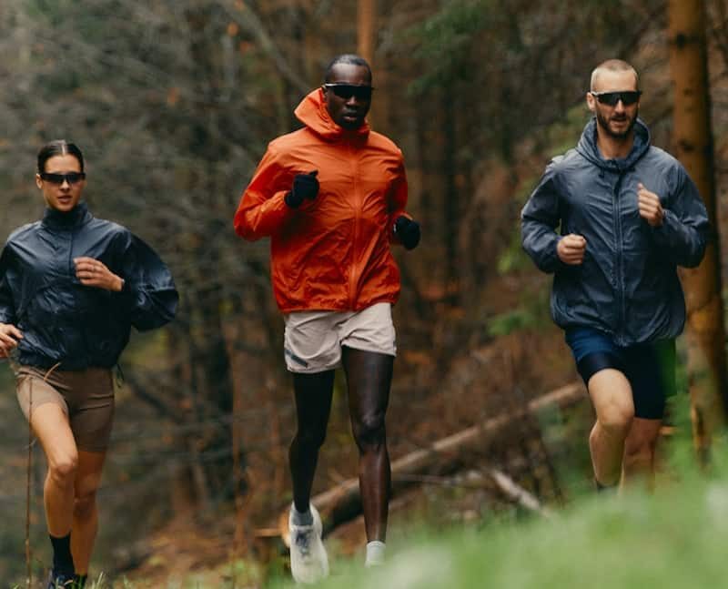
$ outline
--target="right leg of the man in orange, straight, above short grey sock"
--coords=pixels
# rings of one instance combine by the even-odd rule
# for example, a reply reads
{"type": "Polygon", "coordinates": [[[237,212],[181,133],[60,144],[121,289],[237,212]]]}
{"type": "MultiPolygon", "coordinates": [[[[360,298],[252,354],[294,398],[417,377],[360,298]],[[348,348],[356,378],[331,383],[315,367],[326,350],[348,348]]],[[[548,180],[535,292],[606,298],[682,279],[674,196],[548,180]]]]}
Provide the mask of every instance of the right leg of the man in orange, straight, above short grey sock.
{"type": "Polygon", "coordinates": [[[344,347],[342,361],[347,373],[351,427],[359,447],[359,488],[367,540],[384,542],[391,485],[384,418],[394,357],[344,347]]]}

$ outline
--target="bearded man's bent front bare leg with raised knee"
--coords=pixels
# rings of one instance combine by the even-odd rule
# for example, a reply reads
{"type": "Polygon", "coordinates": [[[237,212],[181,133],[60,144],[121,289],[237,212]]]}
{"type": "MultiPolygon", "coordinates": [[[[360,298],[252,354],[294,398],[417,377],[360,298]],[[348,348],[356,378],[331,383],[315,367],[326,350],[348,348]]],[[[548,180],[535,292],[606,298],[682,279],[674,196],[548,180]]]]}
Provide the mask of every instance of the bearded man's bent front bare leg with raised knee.
{"type": "Polygon", "coordinates": [[[589,448],[594,476],[602,485],[619,482],[624,440],[632,427],[632,387],[621,371],[605,369],[589,380],[589,394],[597,414],[589,448]]]}

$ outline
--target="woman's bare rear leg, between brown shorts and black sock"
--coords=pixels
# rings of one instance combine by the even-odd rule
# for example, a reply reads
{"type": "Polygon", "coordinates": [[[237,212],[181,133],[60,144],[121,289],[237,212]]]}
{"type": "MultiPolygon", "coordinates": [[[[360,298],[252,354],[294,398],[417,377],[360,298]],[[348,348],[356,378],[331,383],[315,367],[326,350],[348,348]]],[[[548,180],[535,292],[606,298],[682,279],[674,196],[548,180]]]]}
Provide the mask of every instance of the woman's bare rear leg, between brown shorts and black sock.
{"type": "Polygon", "coordinates": [[[78,452],[76,472],[76,501],[73,511],[71,551],[76,574],[87,574],[98,530],[96,492],[101,482],[106,452],[78,452]]]}

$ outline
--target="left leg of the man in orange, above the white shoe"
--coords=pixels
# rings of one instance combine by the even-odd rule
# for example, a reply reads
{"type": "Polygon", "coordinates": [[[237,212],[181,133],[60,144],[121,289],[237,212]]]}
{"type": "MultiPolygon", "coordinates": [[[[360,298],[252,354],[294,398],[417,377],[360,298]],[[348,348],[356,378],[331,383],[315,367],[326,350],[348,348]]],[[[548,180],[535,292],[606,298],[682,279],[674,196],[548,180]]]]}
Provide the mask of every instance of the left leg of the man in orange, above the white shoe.
{"type": "Polygon", "coordinates": [[[319,461],[319,448],[326,440],[334,371],[293,375],[298,431],[288,450],[293,482],[293,503],[301,513],[308,512],[311,486],[319,461]]]}

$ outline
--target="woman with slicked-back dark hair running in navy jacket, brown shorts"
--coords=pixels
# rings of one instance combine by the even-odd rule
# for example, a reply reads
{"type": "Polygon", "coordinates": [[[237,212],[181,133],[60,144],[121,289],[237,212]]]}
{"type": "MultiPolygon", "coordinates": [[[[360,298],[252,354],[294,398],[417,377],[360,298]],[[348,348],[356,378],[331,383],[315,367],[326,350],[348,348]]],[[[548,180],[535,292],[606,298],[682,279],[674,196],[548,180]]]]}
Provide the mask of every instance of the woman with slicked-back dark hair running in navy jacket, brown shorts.
{"type": "Polygon", "coordinates": [[[91,216],[80,149],[54,141],[35,183],[47,209],[0,255],[0,358],[10,358],[21,410],[48,463],[48,588],[86,584],[96,540],[96,491],[114,416],[111,368],[131,326],[172,320],[177,289],[157,254],[116,223],[91,216]]]}

